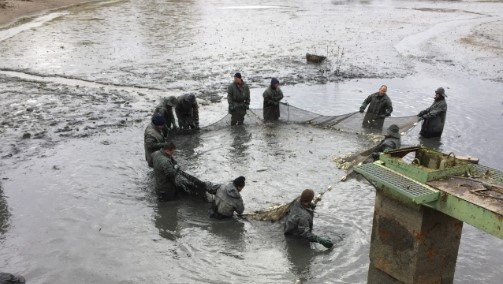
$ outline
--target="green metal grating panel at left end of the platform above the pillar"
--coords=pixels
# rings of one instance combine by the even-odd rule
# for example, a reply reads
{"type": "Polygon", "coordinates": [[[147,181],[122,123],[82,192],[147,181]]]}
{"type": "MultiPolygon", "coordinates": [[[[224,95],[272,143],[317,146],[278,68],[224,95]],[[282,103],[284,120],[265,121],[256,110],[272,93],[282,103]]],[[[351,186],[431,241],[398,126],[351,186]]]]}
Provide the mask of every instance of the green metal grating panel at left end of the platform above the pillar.
{"type": "Polygon", "coordinates": [[[430,202],[438,198],[437,191],[381,165],[363,164],[356,167],[355,171],[371,181],[384,184],[389,189],[411,198],[416,203],[430,202]]]}

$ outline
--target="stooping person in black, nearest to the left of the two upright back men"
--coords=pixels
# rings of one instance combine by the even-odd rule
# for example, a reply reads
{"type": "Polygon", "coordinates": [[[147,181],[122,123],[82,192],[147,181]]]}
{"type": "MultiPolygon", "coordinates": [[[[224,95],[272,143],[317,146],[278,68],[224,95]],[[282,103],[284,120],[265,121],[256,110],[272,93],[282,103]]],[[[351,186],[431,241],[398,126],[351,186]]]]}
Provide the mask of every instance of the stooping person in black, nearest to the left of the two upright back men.
{"type": "Polygon", "coordinates": [[[199,106],[194,94],[179,96],[175,107],[178,125],[182,129],[199,129],[199,106]]]}

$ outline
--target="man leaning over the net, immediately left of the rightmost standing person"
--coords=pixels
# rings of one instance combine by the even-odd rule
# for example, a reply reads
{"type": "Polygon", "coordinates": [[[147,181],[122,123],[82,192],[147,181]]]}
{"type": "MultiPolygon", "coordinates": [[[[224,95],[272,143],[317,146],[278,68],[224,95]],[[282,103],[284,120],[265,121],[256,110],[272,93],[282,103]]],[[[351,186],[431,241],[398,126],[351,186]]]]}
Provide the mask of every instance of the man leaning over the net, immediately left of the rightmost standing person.
{"type": "Polygon", "coordinates": [[[391,99],[386,94],[387,91],[388,87],[386,85],[382,85],[381,88],[379,88],[379,92],[368,96],[363,101],[363,104],[360,107],[361,113],[363,113],[365,108],[369,106],[367,113],[363,118],[362,126],[364,128],[382,129],[384,119],[390,116],[393,112],[393,105],[391,104],[391,99]]]}

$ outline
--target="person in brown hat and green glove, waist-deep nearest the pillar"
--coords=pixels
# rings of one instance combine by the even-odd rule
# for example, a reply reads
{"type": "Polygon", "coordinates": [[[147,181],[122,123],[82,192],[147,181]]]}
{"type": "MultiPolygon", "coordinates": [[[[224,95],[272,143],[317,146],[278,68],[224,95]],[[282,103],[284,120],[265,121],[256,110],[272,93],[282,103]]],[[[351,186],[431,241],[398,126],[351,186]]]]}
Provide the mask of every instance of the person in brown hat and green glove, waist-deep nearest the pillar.
{"type": "Polygon", "coordinates": [[[305,189],[300,197],[293,201],[290,210],[285,216],[284,234],[287,236],[294,236],[306,239],[310,242],[316,242],[326,248],[333,246],[332,241],[326,238],[321,238],[313,234],[313,216],[314,207],[313,203],[314,191],[305,189]]]}

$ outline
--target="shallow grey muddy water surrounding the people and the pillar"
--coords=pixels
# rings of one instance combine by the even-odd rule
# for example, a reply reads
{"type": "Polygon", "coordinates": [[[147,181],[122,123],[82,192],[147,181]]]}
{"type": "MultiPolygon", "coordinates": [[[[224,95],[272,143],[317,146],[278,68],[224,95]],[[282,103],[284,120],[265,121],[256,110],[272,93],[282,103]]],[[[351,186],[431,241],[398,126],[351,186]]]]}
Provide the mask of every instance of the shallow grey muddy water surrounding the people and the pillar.
{"type": "MultiPolygon", "coordinates": [[[[271,76],[285,100],[322,114],[356,111],[381,84],[394,115],[447,90],[442,151],[503,169],[501,11],[495,1],[108,1],[0,31],[0,263],[33,283],[366,281],[374,191],[333,156],[368,146],[298,125],[176,138],[202,179],[245,175],[250,210],[334,185],[315,231],[335,248],[285,240],[279,224],[207,218],[208,204],[158,204],[142,134],[161,94],[195,92],[202,125],[225,114],[242,71],[260,107],[271,76]],[[469,43],[469,44],[468,44],[469,43]],[[344,51],[342,52],[342,48],[344,51]],[[328,54],[306,64],[305,52],[328,54]],[[337,55],[342,59],[337,60],[337,55]],[[27,139],[22,139],[24,134],[27,139]]],[[[456,282],[499,283],[501,240],[468,225],[456,282]]]]}

